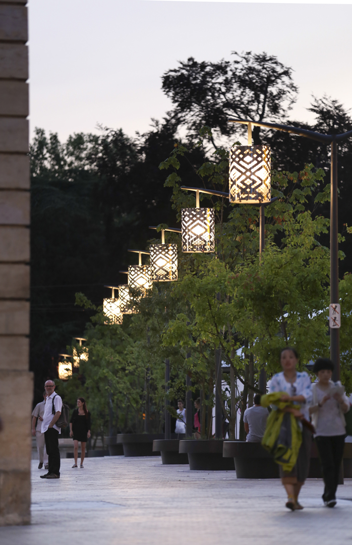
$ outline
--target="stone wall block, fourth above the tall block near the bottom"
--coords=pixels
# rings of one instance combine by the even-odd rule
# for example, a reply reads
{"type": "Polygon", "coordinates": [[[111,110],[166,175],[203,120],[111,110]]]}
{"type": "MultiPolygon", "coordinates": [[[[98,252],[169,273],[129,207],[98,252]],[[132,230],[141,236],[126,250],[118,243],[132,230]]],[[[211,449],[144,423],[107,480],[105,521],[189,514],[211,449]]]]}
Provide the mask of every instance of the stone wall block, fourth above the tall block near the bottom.
{"type": "Polygon", "coordinates": [[[29,261],[29,229],[0,227],[0,263],[29,261]]]}

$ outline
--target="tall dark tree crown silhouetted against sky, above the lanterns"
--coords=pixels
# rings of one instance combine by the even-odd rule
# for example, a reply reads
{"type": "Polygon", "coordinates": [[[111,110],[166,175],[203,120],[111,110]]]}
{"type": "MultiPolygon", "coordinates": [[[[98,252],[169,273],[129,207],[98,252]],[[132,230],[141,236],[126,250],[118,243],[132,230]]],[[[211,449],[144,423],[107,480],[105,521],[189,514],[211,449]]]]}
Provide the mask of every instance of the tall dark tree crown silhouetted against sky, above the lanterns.
{"type": "MultiPolygon", "coordinates": [[[[217,63],[190,57],[162,76],[162,89],[174,104],[170,113],[193,138],[203,125],[219,135],[235,134],[238,126],[227,123],[229,116],[274,122],[284,118],[296,100],[292,68],[277,57],[251,51],[232,54],[232,61],[217,63]]],[[[253,138],[260,142],[259,127],[253,138]]]]}

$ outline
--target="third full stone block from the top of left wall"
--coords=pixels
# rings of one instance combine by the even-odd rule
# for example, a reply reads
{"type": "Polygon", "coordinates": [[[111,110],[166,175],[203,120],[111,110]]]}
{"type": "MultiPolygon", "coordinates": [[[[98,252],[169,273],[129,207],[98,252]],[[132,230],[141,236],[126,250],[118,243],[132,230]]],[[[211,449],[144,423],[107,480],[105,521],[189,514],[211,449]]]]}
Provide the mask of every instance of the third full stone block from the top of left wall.
{"type": "Polygon", "coordinates": [[[0,80],[0,116],[27,117],[28,113],[28,84],[24,81],[0,80]]]}

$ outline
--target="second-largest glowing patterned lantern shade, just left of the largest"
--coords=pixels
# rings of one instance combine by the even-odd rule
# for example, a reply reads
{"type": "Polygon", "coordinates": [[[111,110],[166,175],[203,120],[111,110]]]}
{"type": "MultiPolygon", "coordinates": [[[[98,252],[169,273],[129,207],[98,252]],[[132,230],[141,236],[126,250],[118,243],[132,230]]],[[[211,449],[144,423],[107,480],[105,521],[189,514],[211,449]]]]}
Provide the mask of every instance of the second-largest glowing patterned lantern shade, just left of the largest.
{"type": "Polygon", "coordinates": [[[181,214],[182,251],[215,251],[214,208],[183,208],[181,214]]]}

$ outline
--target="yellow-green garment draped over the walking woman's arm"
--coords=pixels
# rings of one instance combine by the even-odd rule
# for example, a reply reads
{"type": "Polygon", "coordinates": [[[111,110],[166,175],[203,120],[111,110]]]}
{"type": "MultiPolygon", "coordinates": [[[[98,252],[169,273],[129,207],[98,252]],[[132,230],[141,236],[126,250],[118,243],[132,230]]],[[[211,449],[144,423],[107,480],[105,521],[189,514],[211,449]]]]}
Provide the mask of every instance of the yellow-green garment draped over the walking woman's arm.
{"type": "Polygon", "coordinates": [[[300,405],[295,405],[292,402],[280,401],[281,396],[287,395],[286,392],[268,393],[260,398],[262,407],[276,405],[277,409],[272,410],[266,421],[262,446],[268,450],[274,457],[277,464],[282,465],[284,471],[292,471],[297,461],[298,452],[302,443],[302,432],[298,425],[297,419],[291,413],[284,413],[285,407],[299,409],[300,405]],[[285,421],[283,422],[284,416],[285,421]],[[287,425],[289,429],[283,427],[287,425]]]}

